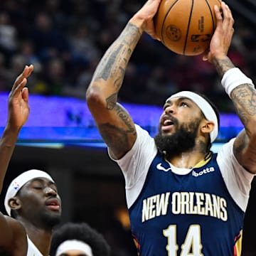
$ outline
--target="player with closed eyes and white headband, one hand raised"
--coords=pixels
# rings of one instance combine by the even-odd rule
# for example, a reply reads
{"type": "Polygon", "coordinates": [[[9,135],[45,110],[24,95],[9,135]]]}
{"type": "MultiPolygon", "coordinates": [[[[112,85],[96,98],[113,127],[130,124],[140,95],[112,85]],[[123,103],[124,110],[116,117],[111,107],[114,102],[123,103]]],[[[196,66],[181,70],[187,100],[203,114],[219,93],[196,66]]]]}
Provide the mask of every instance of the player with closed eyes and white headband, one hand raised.
{"type": "MultiPolygon", "coordinates": [[[[18,138],[29,114],[26,66],[9,94],[8,120],[0,141],[0,188],[18,138]]],[[[0,189],[0,191],[1,191],[0,189]]],[[[1,256],[48,256],[52,230],[60,222],[60,197],[53,178],[29,170],[11,181],[4,199],[9,216],[0,213],[1,256]]]]}

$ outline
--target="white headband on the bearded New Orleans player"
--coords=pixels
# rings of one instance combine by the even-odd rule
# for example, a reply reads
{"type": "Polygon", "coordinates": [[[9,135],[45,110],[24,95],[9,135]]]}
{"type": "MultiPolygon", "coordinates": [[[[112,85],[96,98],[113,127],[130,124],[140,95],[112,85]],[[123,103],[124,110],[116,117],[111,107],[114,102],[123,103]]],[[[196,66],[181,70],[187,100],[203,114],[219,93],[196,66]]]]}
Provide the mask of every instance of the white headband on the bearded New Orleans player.
{"type": "Polygon", "coordinates": [[[214,142],[214,140],[218,136],[218,118],[213,110],[213,107],[210,106],[209,102],[205,100],[203,97],[198,95],[195,92],[189,92],[189,91],[182,91],[182,92],[177,92],[174,95],[171,95],[166,102],[170,99],[173,99],[174,97],[186,97],[190,100],[193,100],[193,102],[198,105],[200,110],[203,112],[204,116],[208,121],[214,122],[215,126],[213,128],[213,131],[210,132],[210,142],[214,142]]]}

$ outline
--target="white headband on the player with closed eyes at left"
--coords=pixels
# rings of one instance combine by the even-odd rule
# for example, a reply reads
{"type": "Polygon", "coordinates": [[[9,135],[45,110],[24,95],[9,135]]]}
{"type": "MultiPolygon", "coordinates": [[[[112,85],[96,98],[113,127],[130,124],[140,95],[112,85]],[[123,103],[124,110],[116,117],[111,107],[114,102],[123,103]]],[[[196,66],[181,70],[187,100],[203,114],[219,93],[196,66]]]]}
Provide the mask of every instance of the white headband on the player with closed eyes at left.
{"type": "Polygon", "coordinates": [[[48,178],[48,180],[53,181],[53,178],[49,174],[47,174],[45,171],[40,171],[36,169],[25,171],[22,174],[20,174],[18,177],[14,178],[14,180],[11,181],[6,192],[6,196],[4,198],[4,206],[9,216],[11,216],[9,199],[16,196],[16,193],[21,189],[21,187],[28,181],[31,181],[33,178],[48,178]]]}

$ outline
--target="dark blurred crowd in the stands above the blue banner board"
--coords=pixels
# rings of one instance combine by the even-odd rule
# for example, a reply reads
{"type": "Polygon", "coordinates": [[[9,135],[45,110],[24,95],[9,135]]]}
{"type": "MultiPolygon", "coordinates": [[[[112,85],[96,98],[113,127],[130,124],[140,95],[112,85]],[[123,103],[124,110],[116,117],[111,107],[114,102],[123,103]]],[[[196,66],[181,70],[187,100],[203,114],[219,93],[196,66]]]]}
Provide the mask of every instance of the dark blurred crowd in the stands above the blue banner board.
{"type": "MultiPolygon", "coordinates": [[[[84,99],[95,66],[142,4],[139,0],[1,0],[0,91],[9,91],[23,66],[33,63],[35,72],[28,85],[32,94],[84,99]]],[[[229,55],[254,79],[255,24],[234,16],[229,55]]],[[[215,69],[202,61],[202,55],[177,55],[144,34],[127,68],[119,101],[162,105],[178,90],[202,92],[220,111],[233,112],[215,69]]]]}

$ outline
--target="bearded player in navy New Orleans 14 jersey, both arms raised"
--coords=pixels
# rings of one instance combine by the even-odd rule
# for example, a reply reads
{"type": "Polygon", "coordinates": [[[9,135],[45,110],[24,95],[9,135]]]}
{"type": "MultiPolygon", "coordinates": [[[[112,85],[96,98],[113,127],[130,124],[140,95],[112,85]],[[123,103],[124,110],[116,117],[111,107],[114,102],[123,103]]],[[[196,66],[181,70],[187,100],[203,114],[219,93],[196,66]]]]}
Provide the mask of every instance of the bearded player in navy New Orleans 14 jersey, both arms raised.
{"type": "Polygon", "coordinates": [[[215,6],[217,27],[203,60],[215,66],[244,124],[238,137],[218,154],[210,151],[218,136],[218,112],[195,92],[168,97],[154,139],[117,102],[142,33],[156,38],[153,17],[160,2],[147,1],[102,57],[87,89],[87,105],[110,157],[124,174],[139,255],[240,255],[256,173],[256,93],[252,80],[227,56],[234,32],[228,6],[221,3],[223,17],[215,6]]]}

